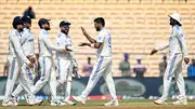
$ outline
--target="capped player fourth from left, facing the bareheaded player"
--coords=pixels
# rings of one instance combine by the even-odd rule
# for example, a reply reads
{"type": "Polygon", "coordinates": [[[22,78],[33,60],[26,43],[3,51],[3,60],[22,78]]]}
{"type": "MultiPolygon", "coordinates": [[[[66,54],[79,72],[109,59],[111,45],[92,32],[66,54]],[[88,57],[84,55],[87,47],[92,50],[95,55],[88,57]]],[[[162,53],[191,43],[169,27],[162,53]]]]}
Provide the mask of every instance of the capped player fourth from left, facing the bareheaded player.
{"type": "Polygon", "coordinates": [[[62,21],[60,23],[61,32],[57,35],[55,41],[57,46],[62,46],[62,47],[66,46],[66,52],[56,52],[57,72],[58,72],[57,85],[64,86],[65,97],[63,101],[66,105],[76,105],[75,103],[69,100],[70,91],[72,91],[73,69],[78,68],[77,62],[73,53],[72,37],[68,35],[69,25],[70,23],[66,21],[62,21]]]}

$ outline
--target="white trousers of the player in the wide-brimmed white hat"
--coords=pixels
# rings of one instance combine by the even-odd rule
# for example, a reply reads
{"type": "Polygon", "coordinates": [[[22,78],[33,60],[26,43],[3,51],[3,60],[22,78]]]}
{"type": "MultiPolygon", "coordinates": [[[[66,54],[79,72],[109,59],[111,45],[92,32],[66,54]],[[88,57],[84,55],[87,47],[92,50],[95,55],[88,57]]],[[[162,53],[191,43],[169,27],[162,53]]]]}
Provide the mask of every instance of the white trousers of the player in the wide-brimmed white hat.
{"type": "Polygon", "coordinates": [[[169,94],[172,77],[174,77],[181,96],[185,96],[185,83],[182,74],[182,54],[170,55],[164,74],[164,92],[161,99],[166,100],[169,94]]]}

